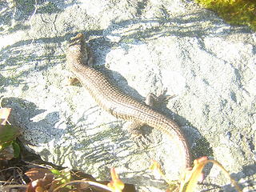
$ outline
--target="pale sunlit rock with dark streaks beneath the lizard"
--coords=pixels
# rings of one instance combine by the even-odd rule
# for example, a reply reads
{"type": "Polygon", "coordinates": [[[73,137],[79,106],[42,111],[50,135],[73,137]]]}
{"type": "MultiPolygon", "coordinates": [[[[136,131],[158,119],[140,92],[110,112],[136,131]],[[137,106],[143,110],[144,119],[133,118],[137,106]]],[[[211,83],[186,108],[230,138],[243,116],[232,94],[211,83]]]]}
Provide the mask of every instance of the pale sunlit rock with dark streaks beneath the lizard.
{"type": "MultiPolygon", "coordinates": [[[[95,66],[127,94],[176,95],[164,114],[184,130],[194,158],[222,163],[244,187],[256,179],[256,34],[182,0],[0,2],[0,91],[26,145],[55,164],[109,179],[116,167],[140,191],[162,191],[150,159],[178,178],[170,138],[145,130],[141,148],[126,122],[101,110],[82,86],[66,86],[66,45],[86,34],[95,66]]],[[[234,191],[215,166],[198,190],[234,191]]]]}

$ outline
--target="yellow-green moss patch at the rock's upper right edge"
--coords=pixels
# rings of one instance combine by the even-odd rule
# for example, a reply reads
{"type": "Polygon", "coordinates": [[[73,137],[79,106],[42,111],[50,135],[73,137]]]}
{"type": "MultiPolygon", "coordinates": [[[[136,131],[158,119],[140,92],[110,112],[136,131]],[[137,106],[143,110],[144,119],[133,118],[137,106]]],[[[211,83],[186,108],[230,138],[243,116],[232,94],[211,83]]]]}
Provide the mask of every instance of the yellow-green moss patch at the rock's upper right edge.
{"type": "Polygon", "coordinates": [[[256,30],[256,1],[254,0],[195,0],[206,9],[214,10],[234,25],[247,25],[256,30]]]}

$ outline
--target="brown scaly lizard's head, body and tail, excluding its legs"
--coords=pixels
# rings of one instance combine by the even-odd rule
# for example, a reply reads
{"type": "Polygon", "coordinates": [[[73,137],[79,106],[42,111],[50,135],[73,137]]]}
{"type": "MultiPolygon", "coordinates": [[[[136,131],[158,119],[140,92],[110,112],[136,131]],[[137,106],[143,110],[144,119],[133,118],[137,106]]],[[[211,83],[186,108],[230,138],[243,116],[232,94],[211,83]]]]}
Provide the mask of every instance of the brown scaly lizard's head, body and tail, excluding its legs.
{"type": "Polygon", "coordinates": [[[66,68],[74,74],[71,81],[78,81],[101,106],[116,118],[134,122],[139,125],[151,126],[162,131],[175,140],[182,153],[182,169],[190,167],[190,147],[185,135],[176,122],[153,110],[150,106],[138,102],[130,95],[110,82],[102,72],[94,69],[90,49],[82,33],[70,39],[66,53],[66,68]]]}

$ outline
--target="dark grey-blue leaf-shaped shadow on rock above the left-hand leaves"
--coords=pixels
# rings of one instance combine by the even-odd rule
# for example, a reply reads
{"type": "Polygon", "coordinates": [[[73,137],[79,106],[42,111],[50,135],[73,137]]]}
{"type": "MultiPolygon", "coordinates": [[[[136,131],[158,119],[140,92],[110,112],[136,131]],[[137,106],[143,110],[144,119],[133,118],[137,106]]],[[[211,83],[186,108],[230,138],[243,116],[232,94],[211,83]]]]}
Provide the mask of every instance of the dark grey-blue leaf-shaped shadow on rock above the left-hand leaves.
{"type": "Polygon", "coordinates": [[[26,141],[33,141],[33,143],[27,144],[39,145],[62,137],[63,130],[55,126],[59,120],[58,112],[50,112],[42,118],[46,110],[38,109],[33,102],[22,98],[2,98],[1,105],[12,109],[10,122],[14,126],[18,126],[26,135],[26,138],[22,138],[25,140],[24,144],[27,143],[26,141]],[[38,115],[40,117],[37,119],[38,115]]]}

